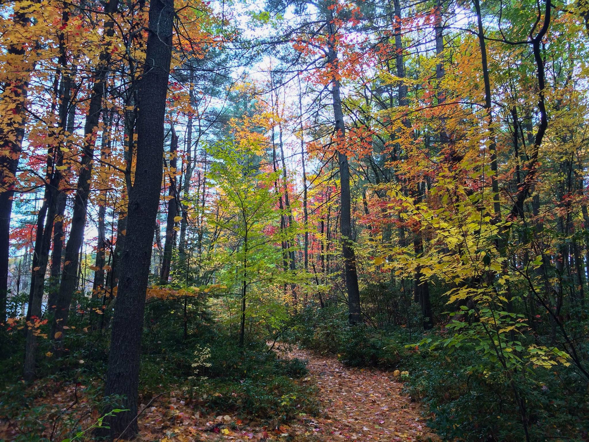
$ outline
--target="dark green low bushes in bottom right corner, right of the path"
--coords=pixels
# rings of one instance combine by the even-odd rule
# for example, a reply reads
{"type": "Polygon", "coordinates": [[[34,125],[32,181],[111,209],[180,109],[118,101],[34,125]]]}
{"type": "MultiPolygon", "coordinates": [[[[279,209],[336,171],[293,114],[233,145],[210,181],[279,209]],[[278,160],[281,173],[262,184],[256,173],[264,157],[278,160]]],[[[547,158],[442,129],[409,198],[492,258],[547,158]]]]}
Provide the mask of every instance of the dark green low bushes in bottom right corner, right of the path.
{"type": "MultiPolygon", "coordinates": [[[[525,440],[508,379],[501,372],[468,369],[481,362],[470,349],[413,351],[403,362],[409,371],[406,389],[428,407],[434,415],[429,425],[444,439],[525,440]]],[[[555,376],[539,368],[518,375],[517,385],[525,400],[531,440],[584,440],[589,423],[582,417],[589,408],[578,377],[571,372],[555,376]]]]}

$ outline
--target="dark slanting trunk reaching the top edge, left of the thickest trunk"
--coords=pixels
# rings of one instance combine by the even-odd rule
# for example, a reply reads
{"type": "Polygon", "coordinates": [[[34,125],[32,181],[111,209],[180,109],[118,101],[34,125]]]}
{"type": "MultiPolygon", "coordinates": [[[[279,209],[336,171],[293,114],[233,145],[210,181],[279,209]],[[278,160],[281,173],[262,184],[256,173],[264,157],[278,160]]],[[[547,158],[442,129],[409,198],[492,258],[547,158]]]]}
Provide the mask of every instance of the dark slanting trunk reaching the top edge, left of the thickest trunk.
{"type": "MultiPolygon", "coordinates": [[[[105,14],[110,17],[117,11],[118,0],[110,0],[105,8],[105,14]]],[[[78,283],[78,263],[80,262],[80,247],[84,240],[84,226],[90,194],[90,179],[92,177],[92,160],[94,159],[94,146],[100,113],[102,110],[102,97],[106,87],[106,78],[111,60],[111,44],[114,35],[114,19],[110,18],[104,24],[107,44],[100,54],[94,84],[90,93],[90,104],[84,124],[84,150],[80,161],[80,174],[74,195],[74,213],[72,215],[70,238],[65,245],[64,269],[59,285],[59,293],[55,302],[54,318],[51,323],[49,337],[55,340],[55,347],[62,348],[64,326],[67,324],[70,314],[72,296],[78,283]]],[[[103,135],[104,136],[104,135],[103,135]]]]}

